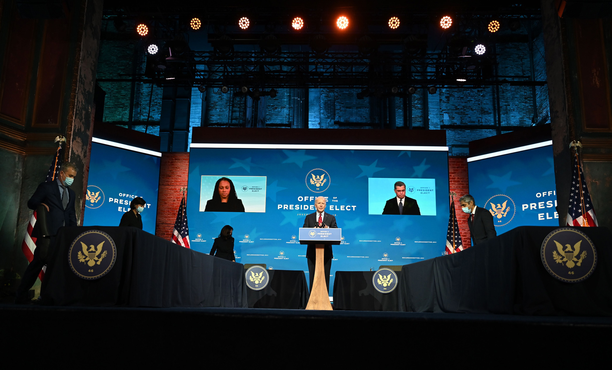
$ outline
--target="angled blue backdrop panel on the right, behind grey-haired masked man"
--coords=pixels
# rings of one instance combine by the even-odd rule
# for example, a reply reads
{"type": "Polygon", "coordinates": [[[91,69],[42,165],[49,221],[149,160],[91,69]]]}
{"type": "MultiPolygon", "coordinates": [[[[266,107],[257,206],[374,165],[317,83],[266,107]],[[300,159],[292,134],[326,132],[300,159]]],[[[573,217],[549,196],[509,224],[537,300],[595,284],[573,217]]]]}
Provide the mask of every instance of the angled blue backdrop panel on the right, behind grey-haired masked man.
{"type": "Polygon", "coordinates": [[[468,173],[469,192],[477,206],[493,211],[498,235],[559,225],[552,145],[468,162],[468,173]]]}

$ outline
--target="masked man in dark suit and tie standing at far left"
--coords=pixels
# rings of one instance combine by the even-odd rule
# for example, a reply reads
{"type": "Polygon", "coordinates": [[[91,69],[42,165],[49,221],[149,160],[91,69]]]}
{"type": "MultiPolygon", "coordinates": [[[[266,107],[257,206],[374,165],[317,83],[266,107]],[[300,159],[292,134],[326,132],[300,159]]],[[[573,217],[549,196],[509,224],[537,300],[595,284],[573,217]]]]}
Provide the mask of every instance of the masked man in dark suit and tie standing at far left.
{"type": "MultiPolygon", "coordinates": [[[[39,205],[45,206],[48,211],[47,227],[51,236],[50,246],[53,247],[54,236],[62,226],[76,226],[75,192],[69,188],[76,176],[76,165],[73,163],[62,164],[56,181],[49,181],[38,186],[30,200],[28,208],[36,210],[39,205]]],[[[32,236],[41,237],[42,235],[32,236]]],[[[47,251],[43,248],[34,249],[34,259],[26,268],[21,279],[21,285],[17,289],[15,303],[28,302],[28,290],[36,282],[40,270],[45,266],[47,251]]]]}

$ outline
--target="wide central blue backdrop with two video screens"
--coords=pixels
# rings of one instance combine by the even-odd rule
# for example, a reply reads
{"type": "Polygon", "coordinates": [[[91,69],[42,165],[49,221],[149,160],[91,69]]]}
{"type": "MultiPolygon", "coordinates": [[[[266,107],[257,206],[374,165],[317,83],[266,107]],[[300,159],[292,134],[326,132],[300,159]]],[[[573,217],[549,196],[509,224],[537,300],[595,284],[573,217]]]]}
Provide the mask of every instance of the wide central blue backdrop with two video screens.
{"type": "MultiPolygon", "coordinates": [[[[379,189],[377,199],[395,197],[392,183],[388,189],[379,189]]],[[[192,147],[187,200],[190,239],[193,249],[208,253],[213,238],[228,224],[234,228],[236,262],[307,271],[306,246],[299,244],[298,228],[307,214],[315,212],[315,197],[323,195],[328,198],[326,212],[336,216],[344,238],[343,244],[334,246],[331,290],[337,270],[377,270],[380,265],[405,265],[441,255],[449,217],[448,192],[446,151],[192,147]],[[202,176],[209,175],[266,176],[266,212],[201,212],[201,199],[211,198],[200,194],[202,176]],[[426,182],[435,184],[431,212],[435,215],[368,214],[370,178],[430,179],[426,182]]],[[[239,198],[241,193],[237,189],[239,198]]],[[[247,207],[247,199],[242,201],[247,207]]]]}

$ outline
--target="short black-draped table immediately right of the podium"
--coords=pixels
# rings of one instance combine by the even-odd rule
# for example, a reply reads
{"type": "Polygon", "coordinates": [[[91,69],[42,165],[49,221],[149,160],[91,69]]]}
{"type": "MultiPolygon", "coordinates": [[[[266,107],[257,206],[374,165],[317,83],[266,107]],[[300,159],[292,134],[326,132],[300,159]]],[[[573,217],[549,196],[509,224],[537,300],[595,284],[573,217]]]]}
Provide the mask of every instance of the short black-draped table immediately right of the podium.
{"type": "MultiPolygon", "coordinates": [[[[334,279],[334,309],[354,311],[398,311],[400,285],[393,292],[374,289],[372,277],[376,271],[336,271],[334,279]]],[[[395,271],[401,281],[401,271],[395,271]]]]}

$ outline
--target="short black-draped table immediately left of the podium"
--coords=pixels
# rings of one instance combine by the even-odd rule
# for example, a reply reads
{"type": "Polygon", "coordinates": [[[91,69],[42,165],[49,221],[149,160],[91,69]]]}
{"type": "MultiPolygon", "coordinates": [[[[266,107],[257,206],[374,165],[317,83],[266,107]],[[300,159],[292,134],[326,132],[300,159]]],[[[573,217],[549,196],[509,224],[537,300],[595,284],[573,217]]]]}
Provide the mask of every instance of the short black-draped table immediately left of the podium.
{"type": "MultiPolygon", "coordinates": [[[[249,308],[305,309],[308,284],[304,271],[267,270],[270,282],[262,290],[247,288],[249,308]]],[[[244,273],[244,272],[243,272],[244,273]]]]}

